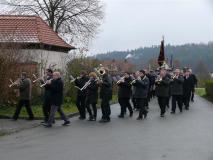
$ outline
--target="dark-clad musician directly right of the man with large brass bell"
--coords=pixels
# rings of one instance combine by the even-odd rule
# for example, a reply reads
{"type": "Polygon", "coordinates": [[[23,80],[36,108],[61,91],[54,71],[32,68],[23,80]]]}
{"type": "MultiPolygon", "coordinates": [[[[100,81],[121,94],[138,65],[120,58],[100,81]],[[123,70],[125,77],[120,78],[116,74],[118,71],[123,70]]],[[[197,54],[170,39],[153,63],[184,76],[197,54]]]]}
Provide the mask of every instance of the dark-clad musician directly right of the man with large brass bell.
{"type": "Polygon", "coordinates": [[[124,77],[117,82],[119,88],[118,88],[118,103],[121,106],[121,113],[118,116],[119,118],[124,118],[124,114],[126,111],[126,108],[129,110],[129,116],[133,116],[133,110],[132,106],[130,104],[130,97],[132,93],[132,86],[131,86],[131,77],[129,73],[124,73],[124,77]]]}

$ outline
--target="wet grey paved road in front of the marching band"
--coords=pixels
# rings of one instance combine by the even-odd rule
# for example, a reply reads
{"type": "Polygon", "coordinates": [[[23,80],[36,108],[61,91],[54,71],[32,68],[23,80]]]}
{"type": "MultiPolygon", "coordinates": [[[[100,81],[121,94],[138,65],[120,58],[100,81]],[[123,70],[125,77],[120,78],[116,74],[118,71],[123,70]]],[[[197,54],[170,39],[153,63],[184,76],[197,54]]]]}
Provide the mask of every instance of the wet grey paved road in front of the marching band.
{"type": "Polygon", "coordinates": [[[190,111],[159,117],[156,101],[148,119],[112,122],[72,119],[72,125],[37,127],[0,139],[0,160],[213,160],[213,104],[196,97],[190,111]]]}

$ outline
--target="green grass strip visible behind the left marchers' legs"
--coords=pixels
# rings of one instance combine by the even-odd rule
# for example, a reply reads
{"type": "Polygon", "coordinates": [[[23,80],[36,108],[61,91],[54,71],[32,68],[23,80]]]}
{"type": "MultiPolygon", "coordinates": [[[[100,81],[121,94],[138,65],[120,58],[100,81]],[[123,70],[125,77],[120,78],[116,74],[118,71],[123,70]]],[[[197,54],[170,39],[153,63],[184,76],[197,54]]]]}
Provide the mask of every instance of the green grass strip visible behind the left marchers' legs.
{"type": "MultiPolygon", "coordinates": [[[[117,103],[117,95],[113,95],[113,99],[112,99],[112,104],[117,103]]],[[[100,100],[98,102],[98,107],[100,106],[100,100]]],[[[35,115],[36,118],[42,118],[43,117],[43,112],[42,112],[42,106],[32,106],[33,109],[33,113],[35,115]]],[[[65,114],[70,115],[72,113],[76,113],[78,112],[78,109],[76,107],[76,105],[74,103],[66,103],[63,105],[63,110],[65,112],[65,114]]],[[[4,107],[0,107],[0,116],[8,116],[11,117],[15,112],[15,107],[9,107],[9,106],[4,106],[4,107]]],[[[56,115],[57,117],[59,117],[59,115],[56,115]]],[[[20,117],[28,117],[27,112],[25,110],[25,108],[23,107],[20,117]]]]}

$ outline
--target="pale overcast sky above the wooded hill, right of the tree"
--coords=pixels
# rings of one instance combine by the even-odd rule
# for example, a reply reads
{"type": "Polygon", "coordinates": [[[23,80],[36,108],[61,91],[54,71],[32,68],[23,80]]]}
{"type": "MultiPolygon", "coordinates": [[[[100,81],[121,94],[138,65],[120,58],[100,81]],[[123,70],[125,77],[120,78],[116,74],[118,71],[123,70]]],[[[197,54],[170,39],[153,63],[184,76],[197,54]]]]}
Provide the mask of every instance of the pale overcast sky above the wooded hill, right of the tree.
{"type": "Polygon", "coordinates": [[[213,41],[213,0],[102,0],[105,20],[90,52],[213,41]]]}

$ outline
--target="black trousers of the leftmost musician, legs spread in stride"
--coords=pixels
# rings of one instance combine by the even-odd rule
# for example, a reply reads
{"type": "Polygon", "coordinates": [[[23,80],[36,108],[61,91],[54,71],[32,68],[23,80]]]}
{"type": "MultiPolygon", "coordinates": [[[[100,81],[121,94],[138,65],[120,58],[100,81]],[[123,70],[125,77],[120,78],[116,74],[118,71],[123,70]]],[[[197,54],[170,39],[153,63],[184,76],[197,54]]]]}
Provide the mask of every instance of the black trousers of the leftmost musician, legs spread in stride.
{"type": "Polygon", "coordinates": [[[17,107],[16,107],[16,111],[13,115],[13,119],[17,120],[19,118],[19,114],[21,112],[21,109],[22,107],[25,106],[26,107],[26,110],[27,110],[27,113],[29,115],[29,119],[33,119],[34,118],[34,115],[33,115],[33,112],[32,112],[32,109],[30,107],[30,100],[20,100],[17,107]]]}

